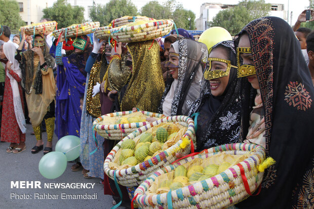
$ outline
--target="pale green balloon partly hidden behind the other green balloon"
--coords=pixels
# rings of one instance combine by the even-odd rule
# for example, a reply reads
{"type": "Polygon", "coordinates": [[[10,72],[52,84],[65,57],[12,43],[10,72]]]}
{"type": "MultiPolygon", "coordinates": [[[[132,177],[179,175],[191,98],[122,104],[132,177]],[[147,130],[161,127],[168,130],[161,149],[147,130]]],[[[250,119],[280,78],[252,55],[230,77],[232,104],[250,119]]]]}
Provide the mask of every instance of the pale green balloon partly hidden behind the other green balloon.
{"type": "Polygon", "coordinates": [[[72,135],[67,135],[59,139],[56,144],[55,150],[65,153],[67,161],[71,161],[80,156],[81,146],[78,146],[80,144],[80,138],[72,135]]]}

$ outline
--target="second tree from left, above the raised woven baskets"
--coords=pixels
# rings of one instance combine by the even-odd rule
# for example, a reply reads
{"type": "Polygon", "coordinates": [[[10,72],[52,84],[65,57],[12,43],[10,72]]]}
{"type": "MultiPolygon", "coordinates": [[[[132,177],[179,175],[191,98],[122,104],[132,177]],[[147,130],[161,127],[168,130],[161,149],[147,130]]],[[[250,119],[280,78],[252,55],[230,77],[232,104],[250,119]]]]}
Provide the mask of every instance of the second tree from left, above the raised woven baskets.
{"type": "Polygon", "coordinates": [[[58,0],[52,7],[45,8],[43,13],[43,18],[57,21],[58,28],[84,22],[84,8],[72,7],[69,3],[66,3],[66,0],[58,0]]]}

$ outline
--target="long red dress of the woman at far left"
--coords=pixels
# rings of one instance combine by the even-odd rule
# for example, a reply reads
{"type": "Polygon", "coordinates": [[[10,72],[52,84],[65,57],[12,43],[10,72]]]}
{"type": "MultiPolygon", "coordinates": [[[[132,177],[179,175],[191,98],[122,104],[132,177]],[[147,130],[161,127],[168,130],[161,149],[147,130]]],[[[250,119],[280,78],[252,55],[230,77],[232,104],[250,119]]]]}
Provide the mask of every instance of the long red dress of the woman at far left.
{"type": "MultiPolygon", "coordinates": [[[[7,72],[7,68],[6,68],[7,72]]],[[[21,87],[21,78],[13,70],[9,72],[19,84],[19,92],[22,102],[22,108],[24,112],[24,100],[23,92],[21,87]]],[[[1,141],[17,143],[25,142],[25,134],[20,130],[20,127],[16,121],[14,104],[13,104],[13,93],[10,78],[6,75],[5,80],[5,93],[3,99],[2,109],[2,122],[1,122],[1,141]]]]}

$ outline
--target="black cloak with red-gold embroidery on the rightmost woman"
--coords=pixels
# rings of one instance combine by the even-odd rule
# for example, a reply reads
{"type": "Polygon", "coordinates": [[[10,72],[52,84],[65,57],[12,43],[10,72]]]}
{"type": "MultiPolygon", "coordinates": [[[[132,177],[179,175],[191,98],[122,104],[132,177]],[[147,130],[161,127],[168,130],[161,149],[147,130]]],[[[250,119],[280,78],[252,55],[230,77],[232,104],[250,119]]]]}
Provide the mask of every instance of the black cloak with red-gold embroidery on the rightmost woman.
{"type": "MultiPolygon", "coordinates": [[[[265,171],[260,194],[239,207],[307,208],[306,202],[313,199],[314,129],[308,125],[314,124],[314,88],[299,41],[290,25],[278,17],[253,20],[240,38],[243,33],[250,39],[263,102],[266,154],[276,164],[265,171]]],[[[250,89],[244,88],[242,99],[249,98],[250,89]]],[[[247,112],[243,123],[248,120],[247,112]]]]}

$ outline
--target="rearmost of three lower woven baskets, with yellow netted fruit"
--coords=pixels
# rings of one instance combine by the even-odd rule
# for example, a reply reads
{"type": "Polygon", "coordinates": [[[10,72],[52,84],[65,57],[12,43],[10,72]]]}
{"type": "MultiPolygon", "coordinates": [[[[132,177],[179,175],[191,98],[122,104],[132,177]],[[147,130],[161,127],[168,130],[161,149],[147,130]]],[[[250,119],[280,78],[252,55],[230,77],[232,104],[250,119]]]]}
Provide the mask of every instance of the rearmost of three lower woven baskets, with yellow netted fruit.
{"type": "Polygon", "coordinates": [[[146,111],[113,112],[98,117],[93,122],[93,126],[96,132],[105,139],[120,141],[138,128],[148,124],[147,117],[161,119],[166,116],[146,111]]]}

